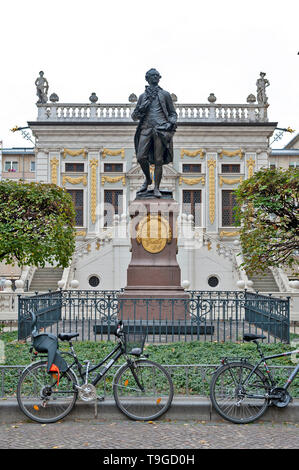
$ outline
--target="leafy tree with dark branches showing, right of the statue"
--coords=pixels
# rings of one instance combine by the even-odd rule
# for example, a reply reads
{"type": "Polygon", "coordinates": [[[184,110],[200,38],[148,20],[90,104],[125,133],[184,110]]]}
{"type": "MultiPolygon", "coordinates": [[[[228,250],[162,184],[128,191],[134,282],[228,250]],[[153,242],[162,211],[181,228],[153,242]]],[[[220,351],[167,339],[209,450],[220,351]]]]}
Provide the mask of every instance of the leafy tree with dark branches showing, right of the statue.
{"type": "Polygon", "coordinates": [[[248,274],[294,268],[299,250],[299,171],[262,169],[236,190],[240,241],[248,274]]]}

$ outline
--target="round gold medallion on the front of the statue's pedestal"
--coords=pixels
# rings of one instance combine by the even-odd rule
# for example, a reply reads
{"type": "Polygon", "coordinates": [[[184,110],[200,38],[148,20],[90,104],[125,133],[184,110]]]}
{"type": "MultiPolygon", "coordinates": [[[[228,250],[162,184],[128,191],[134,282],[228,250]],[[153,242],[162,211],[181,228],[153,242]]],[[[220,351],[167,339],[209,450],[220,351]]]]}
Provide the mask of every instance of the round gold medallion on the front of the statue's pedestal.
{"type": "Polygon", "coordinates": [[[170,225],[161,215],[147,215],[137,227],[137,243],[149,253],[160,253],[166,243],[171,243],[172,232],[170,225]]]}

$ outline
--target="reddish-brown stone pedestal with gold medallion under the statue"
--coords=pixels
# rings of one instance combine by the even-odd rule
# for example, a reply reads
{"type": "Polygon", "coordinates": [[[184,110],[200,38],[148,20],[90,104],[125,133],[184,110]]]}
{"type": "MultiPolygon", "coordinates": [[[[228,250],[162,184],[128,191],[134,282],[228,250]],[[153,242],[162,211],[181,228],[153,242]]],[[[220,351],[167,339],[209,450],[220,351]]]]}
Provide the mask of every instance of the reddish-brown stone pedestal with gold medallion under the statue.
{"type": "Polygon", "coordinates": [[[120,316],[183,320],[189,295],[181,286],[177,254],[179,205],[172,198],[136,199],[130,206],[132,258],[120,316]]]}

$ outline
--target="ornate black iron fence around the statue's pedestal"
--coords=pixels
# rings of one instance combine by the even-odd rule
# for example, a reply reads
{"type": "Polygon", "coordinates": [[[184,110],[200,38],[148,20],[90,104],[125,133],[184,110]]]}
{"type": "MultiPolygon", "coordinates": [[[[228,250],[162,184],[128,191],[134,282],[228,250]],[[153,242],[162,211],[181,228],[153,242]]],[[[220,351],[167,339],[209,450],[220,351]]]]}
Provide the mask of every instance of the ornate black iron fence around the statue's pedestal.
{"type": "Polygon", "coordinates": [[[81,340],[114,338],[118,320],[129,332],[146,330],[148,342],[239,341],[243,334],[264,334],[268,342],[289,342],[289,298],[247,291],[189,291],[181,299],[124,299],[122,291],[60,290],[19,296],[18,338],[38,328],[79,332],[81,340]]]}

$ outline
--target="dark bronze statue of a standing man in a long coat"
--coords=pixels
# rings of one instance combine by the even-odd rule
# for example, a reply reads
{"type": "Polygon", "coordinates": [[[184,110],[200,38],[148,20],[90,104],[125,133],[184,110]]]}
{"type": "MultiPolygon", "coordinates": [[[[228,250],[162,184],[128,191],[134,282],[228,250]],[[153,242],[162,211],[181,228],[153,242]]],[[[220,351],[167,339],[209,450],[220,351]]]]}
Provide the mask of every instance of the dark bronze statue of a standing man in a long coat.
{"type": "Polygon", "coordinates": [[[176,131],[177,113],[170,94],[158,86],[161,75],[150,69],[145,79],[149,86],[140,95],[132,119],[139,121],[134,142],[137,161],[145,175],[145,181],[138,191],[146,193],[152,184],[150,165],[155,165],[154,196],[161,197],[159,190],[163,165],[173,161],[172,138],[176,131]]]}

